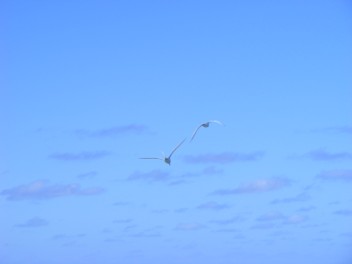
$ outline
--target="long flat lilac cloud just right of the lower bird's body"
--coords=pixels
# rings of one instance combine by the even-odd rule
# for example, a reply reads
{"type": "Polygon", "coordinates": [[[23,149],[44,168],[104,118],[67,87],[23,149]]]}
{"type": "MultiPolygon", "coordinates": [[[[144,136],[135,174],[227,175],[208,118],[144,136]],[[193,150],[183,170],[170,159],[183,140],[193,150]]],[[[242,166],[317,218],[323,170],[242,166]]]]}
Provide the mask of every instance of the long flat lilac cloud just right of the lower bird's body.
{"type": "Polygon", "coordinates": [[[250,153],[236,153],[236,152],[223,152],[223,153],[208,153],[200,155],[188,155],[184,157],[187,163],[218,163],[226,164],[233,162],[245,161],[258,161],[264,156],[263,151],[256,151],[250,153]]]}

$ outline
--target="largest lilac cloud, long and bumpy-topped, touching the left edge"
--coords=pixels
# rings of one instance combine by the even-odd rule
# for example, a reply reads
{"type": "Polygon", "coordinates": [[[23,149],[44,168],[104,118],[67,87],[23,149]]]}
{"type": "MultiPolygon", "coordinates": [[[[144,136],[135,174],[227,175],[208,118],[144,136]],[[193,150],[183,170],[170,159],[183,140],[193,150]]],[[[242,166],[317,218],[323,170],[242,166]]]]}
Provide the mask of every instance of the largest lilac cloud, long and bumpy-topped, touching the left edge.
{"type": "Polygon", "coordinates": [[[103,188],[81,188],[78,184],[52,184],[38,180],[29,184],[20,185],[1,191],[0,195],[10,201],[18,200],[41,200],[63,196],[97,195],[104,191],[103,188]]]}

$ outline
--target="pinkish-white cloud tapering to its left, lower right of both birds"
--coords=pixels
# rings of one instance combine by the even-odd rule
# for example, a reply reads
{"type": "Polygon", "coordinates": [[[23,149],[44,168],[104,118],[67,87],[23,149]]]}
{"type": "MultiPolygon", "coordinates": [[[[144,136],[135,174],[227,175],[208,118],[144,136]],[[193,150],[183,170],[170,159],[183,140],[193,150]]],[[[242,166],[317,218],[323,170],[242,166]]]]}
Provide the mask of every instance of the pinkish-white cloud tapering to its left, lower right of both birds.
{"type": "Polygon", "coordinates": [[[214,195],[231,195],[231,194],[245,194],[245,193],[261,193],[275,191],[290,184],[290,180],[285,178],[269,178],[259,179],[250,183],[241,185],[233,189],[220,189],[214,191],[214,195]]]}

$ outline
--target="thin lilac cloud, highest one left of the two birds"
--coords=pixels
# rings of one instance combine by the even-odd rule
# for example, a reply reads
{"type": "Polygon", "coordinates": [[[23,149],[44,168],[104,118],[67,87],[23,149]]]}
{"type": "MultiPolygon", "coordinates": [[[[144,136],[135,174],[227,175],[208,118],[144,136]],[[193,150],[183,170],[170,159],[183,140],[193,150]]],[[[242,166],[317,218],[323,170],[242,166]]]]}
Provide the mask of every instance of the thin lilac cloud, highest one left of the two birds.
{"type": "Polygon", "coordinates": [[[78,129],[75,133],[80,137],[116,137],[125,134],[142,134],[148,132],[149,129],[141,124],[129,124],[123,126],[113,126],[97,130],[78,129]]]}

